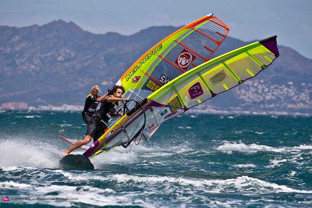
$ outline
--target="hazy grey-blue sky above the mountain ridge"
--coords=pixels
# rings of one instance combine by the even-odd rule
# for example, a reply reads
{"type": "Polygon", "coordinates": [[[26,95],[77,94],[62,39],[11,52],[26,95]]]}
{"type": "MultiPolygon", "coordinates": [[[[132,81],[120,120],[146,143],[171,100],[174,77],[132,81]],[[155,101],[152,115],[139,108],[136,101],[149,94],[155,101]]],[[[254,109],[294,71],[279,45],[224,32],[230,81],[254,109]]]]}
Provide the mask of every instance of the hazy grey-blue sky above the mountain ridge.
{"type": "Polygon", "coordinates": [[[130,35],[150,26],[186,25],[213,13],[243,41],[277,35],[278,44],[312,58],[312,0],[1,0],[0,25],[63,19],[93,33],[130,35]]]}

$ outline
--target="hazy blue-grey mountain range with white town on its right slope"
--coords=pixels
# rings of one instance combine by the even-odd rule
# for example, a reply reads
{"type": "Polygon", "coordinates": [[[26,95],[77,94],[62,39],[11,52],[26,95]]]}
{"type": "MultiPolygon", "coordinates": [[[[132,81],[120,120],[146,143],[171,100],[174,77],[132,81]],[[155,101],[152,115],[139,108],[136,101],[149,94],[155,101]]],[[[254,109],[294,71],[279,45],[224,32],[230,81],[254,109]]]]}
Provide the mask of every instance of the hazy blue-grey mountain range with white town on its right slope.
{"type": "MultiPolygon", "coordinates": [[[[149,27],[126,36],[93,34],[63,20],[0,26],[0,103],[84,105],[93,85],[105,93],[141,55],[179,28],[149,27]]],[[[228,36],[213,57],[255,41],[228,36]]],[[[278,48],[280,57],[257,77],[198,108],[312,113],[312,60],[290,47],[278,48]]]]}

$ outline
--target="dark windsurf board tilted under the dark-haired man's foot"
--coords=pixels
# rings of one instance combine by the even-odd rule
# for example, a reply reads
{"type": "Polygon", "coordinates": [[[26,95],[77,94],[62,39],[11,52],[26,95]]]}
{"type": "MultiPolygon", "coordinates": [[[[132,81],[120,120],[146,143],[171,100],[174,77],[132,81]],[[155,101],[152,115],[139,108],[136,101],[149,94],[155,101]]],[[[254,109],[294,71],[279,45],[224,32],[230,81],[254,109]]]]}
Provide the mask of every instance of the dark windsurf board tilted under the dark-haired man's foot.
{"type": "Polygon", "coordinates": [[[59,161],[59,167],[71,170],[94,170],[91,161],[82,155],[66,155],[59,161]]]}

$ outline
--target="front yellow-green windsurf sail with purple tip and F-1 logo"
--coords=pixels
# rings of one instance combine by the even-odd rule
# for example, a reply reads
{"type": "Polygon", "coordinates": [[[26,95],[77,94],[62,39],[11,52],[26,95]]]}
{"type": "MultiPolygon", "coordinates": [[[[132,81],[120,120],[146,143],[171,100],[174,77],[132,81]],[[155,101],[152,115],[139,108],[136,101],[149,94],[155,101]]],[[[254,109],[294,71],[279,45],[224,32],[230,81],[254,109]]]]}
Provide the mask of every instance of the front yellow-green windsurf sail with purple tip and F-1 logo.
{"type": "Polygon", "coordinates": [[[94,157],[115,146],[128,144],[144,124],[142,133],[152,132],[161,123],[255,77],[279,57],[276,37],[238,48],[183,73],[117,121],[85,153],[94,157]],[[143,114],[144,113],[144,114],[143,114]]]}

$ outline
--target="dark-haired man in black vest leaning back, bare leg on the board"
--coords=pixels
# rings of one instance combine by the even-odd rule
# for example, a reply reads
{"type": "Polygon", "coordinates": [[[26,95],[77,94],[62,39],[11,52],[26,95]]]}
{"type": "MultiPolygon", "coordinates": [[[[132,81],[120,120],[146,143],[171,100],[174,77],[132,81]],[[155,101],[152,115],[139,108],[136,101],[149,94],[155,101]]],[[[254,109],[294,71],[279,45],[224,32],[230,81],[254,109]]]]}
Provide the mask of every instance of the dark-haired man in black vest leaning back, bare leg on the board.
{"type": "Polygon", "coordinates": [[[62,153],[62,156],[66,156],[71,151],[80,148],[83,145],[88,144],[92,139],[96,141],[105,133],[105,129],[108,126],[108,121],[111,118],[121,117],[123,113],[117,114],[118,102],[127,101],[128,98],[122,98],[124,94],[124,87],[115,85],[112,89],[111,95],[107,96],[100,108],[95,112],[94,116],[90,119],[87,131],[85,132],[85,138],[77,141],[68,150],[62,153]]]}

